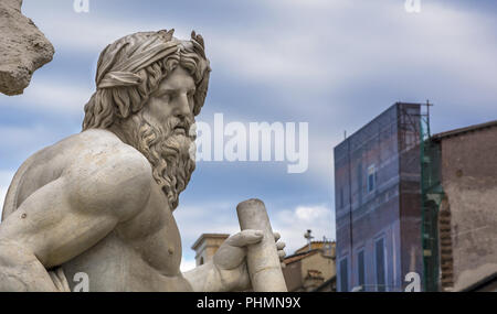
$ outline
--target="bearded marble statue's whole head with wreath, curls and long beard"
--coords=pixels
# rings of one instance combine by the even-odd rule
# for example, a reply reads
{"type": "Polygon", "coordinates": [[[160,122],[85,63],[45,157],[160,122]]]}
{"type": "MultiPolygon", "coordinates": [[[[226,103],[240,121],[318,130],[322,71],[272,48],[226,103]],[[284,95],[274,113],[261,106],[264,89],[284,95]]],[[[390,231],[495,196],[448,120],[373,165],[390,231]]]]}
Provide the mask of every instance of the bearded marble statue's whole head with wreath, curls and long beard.
{"type": "Polygon", "coordinates": [[[171,209],[195,167],[190,130],[205,100],[210,66],[201,35],[142,32],[108,45],[97,64],[97,90],[83,131],[108,129],[140,151],[171,209]]]}

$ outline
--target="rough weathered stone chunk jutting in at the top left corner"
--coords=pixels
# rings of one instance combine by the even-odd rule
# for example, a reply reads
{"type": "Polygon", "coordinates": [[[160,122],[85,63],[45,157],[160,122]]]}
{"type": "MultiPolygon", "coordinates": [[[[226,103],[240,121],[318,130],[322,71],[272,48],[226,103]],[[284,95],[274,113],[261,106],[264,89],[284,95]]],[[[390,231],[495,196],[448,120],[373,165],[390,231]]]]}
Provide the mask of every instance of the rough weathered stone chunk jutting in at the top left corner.
{"type": "Polygon", "coordinates": [[[0,91],[22,94],[33,72],[52,61],[54,48],[33,21],[21,13],[22,0],[0,1],[0,91]]]}

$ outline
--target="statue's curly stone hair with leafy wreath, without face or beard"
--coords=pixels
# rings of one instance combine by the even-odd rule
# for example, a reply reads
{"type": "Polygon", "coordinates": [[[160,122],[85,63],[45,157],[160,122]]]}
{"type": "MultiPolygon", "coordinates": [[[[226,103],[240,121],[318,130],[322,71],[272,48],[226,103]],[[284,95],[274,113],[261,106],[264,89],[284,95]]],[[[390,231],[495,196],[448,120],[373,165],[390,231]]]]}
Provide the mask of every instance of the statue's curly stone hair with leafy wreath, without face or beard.
{"type": "Polygon", "coordinates": [[[193,113],[200,113],[211,72],[204,42],[194,31],[190,41],[180,41],[172,36],[173,31],[127,35],[101,53],[95,78],[97,89],[85,105],[83,131],[107,129],[116,119],[139,112],[150,94],[178,65],[195,82],[193,113]]]}

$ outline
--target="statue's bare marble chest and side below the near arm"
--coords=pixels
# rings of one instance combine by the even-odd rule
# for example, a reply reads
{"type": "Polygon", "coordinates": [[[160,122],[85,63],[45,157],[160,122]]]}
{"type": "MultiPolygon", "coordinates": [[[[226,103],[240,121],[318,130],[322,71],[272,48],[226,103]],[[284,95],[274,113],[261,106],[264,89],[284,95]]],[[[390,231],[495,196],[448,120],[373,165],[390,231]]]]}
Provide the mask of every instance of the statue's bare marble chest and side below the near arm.
{"type": "Polygon", "coordinates": [[[176,220],[165,195],[154,186],[142,212],[63,266],[72,290],[78,272],[88,274],[91,291],[190,290],[179,270],[181,239],[176,220]]]}

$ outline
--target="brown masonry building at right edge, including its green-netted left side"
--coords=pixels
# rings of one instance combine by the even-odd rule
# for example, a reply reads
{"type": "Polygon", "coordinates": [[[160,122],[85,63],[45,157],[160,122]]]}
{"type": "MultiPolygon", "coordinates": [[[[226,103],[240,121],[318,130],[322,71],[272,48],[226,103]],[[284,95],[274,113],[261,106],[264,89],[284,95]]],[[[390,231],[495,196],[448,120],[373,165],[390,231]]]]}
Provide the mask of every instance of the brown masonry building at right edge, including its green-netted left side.
{"type": "Polygon", "coordinates": [[[495,291],[497,121],[433,137],[426,132],[425,138],[422,191],[426,289],[495,291]]]}

